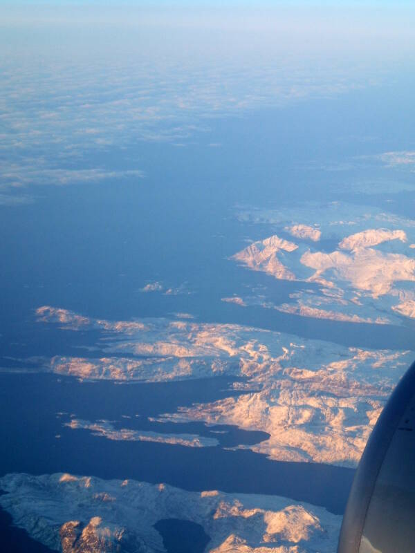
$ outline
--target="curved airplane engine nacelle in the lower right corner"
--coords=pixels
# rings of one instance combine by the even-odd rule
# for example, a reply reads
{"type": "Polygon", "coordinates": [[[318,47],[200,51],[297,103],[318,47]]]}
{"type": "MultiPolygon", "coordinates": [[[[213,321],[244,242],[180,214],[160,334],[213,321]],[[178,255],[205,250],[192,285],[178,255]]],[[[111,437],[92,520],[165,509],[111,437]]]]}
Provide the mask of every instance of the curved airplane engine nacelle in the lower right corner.
{"type": "Polygon", "coordinates": [[[400,379],[353,480],[338,553],[415,552],[415,363],[400,379]]]}

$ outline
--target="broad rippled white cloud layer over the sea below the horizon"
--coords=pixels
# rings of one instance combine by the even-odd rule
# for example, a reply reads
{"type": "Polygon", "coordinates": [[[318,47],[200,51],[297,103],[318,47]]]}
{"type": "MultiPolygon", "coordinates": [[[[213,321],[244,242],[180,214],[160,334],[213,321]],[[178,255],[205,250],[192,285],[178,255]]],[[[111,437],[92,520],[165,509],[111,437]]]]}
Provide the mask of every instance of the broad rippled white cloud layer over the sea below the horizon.
{"type": "MultiPolygon", "coordinates": [[[[170,21],[160,26],[160,14],[150,18],[149,24],[136,13],[134,23],[125,22],[122,31],[115,24],[119,14],[114,14],[110,26],[116,48],[104,46],[102,33],[107,27],[104,30],[97,23],[101,13],[95,16],[87,40],[79,36],[79,41],[73,41],[66,26],[62,27],[62,21],[68,21],[62,16],[57,17],[56,33],[51,23],[54,17],[48,15],[42,29],[45,36],[53,29],[56,48],[45,48],[48,41],[38,41],[37,32],[25,31],[24,51],[19,32],[3,41],[7,86],[1,95],[0,150],[9,161],[1,169],[2,187],[140,178],[139,169],[91,168],[90,160],[97,152],[105,156],[110,148],[124,149],[142,140],[187,144],[196,132],[210,129],[212,117],[283,106],[307,97],[326,98],[367,86],[365,71],[351,75],[350,64],[340,68],[337,60],[335,67],[328,59],[322,65],[321,55],[311,54],[310,44],[306,52],[299,52],[304,28],[298,29],[297,15],[291,15],[297,35],[284,33],[284,39],[270,29],[268,19],[259,17],[251,26],[252,17],[248,17],[240,20],[232,40],[226,32],[215,35],[212,42],[205,23],[197,36],[181,23],[173,25],[175,30],[166,42],[154,39],[165,37],[165,25],[171,27],[170,21]],[[264,26],[266,35],[261,30],[264,26]],[[281,55],[286,41],[297,44],[288,48],[289,61],[281,55]],[[190,43],[194,45],[192,56],[185,47],[190,43]],[[34,70],[39,59],[40,73],[34,70]]],[[[27,14],[19,17],[26,19],[27,14]]],[[[36,13],[29,18],[30,27],[37,17],[36,13]]],[[[197,17],[191,19],[192,25],[199,26],[197,17]]],[[[214,24],[218,25],[223,28],[223,12],[214,24]]],[[[234,14],[225,28],[229,25],[234,26],[234,14]]],[[[281,26],[280,17],[275,18],[275,25],[281,26]]],[[[309,23],[306,28],[310,31],[309,23]]],[[[361,64],[361,52],[359,59],[361,64]]],[[[219,146],[217,141],[207,143],[219,146]]]]}

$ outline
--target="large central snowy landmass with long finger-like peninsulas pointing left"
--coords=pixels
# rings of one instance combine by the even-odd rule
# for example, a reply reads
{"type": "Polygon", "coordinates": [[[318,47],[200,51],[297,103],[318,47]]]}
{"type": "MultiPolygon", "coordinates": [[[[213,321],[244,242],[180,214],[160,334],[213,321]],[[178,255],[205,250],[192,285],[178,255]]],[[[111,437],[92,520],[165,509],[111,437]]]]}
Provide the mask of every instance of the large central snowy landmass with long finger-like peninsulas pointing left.
{"type": "MultiPolygon", "coordinates": [[[[111,322],[51,307],[38,313],[40,320],[56,321],[62,328],[103,330],[97,345],[105,357],[54,357],[45,362],[46,371],[125,382],[244,377],[245,383],[235,384],[241,395],[230,393],[211,404],[164,413],[158,420],[266,431],[270,438],[250,447],[277,460],[355,466],[385,400],[413,359],[409,351],[347,348],[235,324],[111,322]]],[[[98,429],[102,422],[85,424],[111,437],[111,429],[98,429]]],[[[125,431],[125,439],[131,439],[125,431]]],[[[204,438],[172,435],[178,439],[207,445],[204,438]]]]}

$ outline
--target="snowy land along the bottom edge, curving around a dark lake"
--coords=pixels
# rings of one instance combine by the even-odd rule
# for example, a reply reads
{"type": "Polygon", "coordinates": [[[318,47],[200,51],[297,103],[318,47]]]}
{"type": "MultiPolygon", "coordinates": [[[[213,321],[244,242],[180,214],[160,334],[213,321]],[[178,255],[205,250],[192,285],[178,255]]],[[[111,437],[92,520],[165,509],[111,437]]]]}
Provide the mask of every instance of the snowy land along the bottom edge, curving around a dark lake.
{"type": "Polygon", "coordinates": [[[70,474],[0,478],[0,505],[13,523],[63,553],[165,551],[154,524],[201,525],[207,552],[332,553],[341,516],[278,496],[191,492],[136,480],[70,474]]]}

